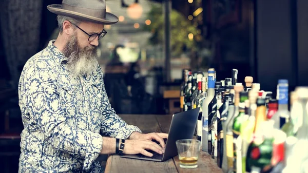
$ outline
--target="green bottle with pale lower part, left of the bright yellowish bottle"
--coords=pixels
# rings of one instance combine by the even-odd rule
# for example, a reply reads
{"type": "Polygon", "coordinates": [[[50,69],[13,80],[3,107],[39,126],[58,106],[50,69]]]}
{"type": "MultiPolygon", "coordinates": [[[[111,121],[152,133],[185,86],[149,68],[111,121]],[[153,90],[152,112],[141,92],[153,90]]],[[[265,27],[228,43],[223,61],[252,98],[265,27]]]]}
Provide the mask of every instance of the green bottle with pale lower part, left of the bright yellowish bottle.
{"type": "Polygon", "coordinates": [[[245,115],[245,101],[248,100],[248,92],[240,92],[239,113],[233,122],[233,149],[234,149],[234,172],[242,172],[242,138],[240,136],[241,125],[245,115]]]}

